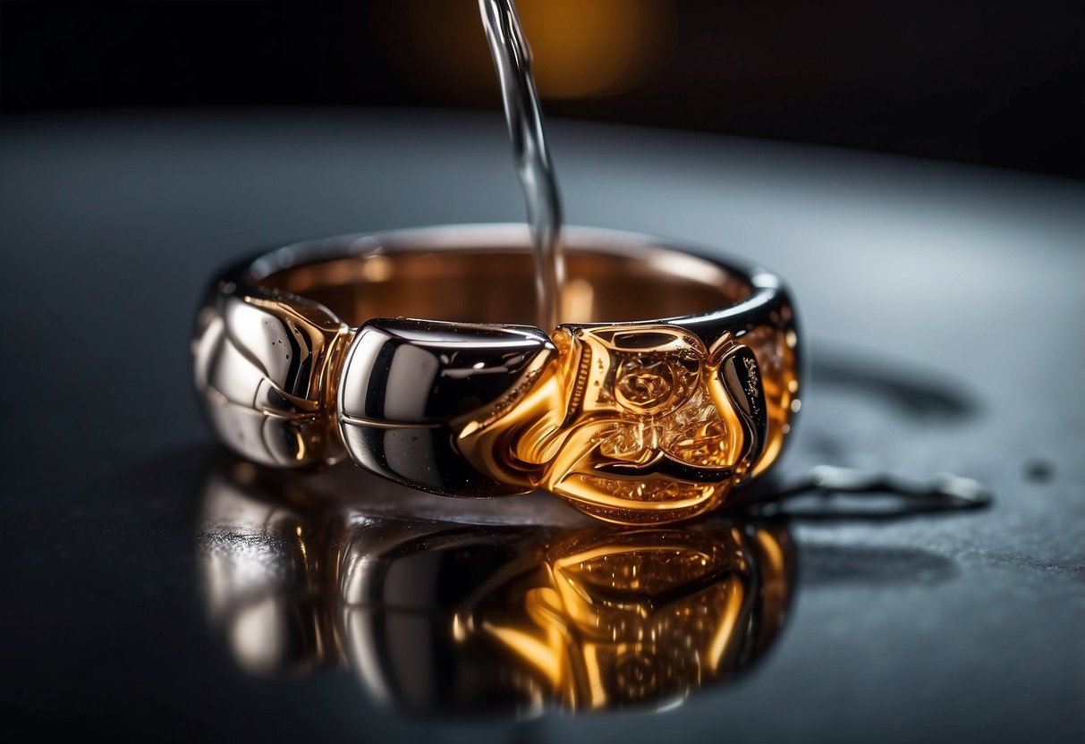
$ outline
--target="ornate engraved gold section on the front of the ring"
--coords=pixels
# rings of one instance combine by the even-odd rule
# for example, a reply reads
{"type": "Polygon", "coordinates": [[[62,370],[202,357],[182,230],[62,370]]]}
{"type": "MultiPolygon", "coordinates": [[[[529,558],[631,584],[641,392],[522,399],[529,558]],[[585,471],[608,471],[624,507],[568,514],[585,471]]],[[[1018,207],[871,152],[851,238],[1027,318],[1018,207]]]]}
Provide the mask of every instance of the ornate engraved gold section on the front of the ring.
{"type": "MultiPolygon", "coordinates": [[[[490,477],[541,487],[618,523],[691,516],[723,501],[752,469],[752,444],[723,381],[738,348],[712,349],[667,324],[560,326],[529,386],[463,423],[458,446],[490,477]]],[[[761,380],[743,358],[748,405],[761,380]]]]}

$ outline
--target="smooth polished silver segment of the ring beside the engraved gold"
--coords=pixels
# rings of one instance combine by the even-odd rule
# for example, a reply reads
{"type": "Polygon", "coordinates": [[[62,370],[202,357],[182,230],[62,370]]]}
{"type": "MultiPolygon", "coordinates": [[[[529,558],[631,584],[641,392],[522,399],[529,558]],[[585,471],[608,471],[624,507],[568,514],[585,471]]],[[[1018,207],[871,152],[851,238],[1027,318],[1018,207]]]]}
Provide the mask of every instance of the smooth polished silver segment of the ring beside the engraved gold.
{"type": "Polygon", "coordinates": [[[529,325],[369,321],[355,334],[339,385],[347,452],[368,471],[424,490],[514,493],[463,461],[449,425],[508,394],[552,351],[529,325]]]}

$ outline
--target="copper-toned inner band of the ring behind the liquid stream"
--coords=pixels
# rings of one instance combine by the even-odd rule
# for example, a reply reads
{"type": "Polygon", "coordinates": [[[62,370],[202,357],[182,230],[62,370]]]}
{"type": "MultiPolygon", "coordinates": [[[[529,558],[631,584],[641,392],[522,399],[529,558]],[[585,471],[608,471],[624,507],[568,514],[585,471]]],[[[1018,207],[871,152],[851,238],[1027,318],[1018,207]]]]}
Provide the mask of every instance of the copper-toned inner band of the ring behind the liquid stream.
{"type": "MultiPolygon", "coordinates": [[[[561,317],[628,322],[711,312],[750,296],[749,279],[665,248],[609,253],[570,248],[561,317]]],[[[412,317],[481,323],[535,322],[535,266],[523,246],[350,256],[258,279],[328,307],[349,325],[412,317]]]]}

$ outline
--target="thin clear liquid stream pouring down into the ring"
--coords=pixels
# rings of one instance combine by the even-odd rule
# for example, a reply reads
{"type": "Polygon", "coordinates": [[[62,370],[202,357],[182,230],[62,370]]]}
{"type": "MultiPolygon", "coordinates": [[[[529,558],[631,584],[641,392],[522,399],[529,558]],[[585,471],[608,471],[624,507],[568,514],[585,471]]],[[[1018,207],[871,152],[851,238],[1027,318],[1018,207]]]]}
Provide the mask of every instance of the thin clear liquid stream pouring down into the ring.
{"type": "Polygon", "coordinates": [[[565,261],[561,248],[561,196],[542,132],[532,54],[512,0],[478,0],[483,28],[501,87],[527,221],[535,248],[537,322],[552,331],[560,322],[565,261]]]}

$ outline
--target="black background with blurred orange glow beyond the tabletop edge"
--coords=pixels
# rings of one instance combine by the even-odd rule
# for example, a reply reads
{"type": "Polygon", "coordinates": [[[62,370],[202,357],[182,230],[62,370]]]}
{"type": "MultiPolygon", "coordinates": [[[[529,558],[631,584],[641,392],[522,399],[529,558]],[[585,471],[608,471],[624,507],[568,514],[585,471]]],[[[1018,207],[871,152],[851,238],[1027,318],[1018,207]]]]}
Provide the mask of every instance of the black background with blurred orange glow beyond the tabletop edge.
{"type": "MultiPolygon", "coordinates": [[[[1085,175],[1080,0],[521,0],[550,116],[1085,175]]],[[[3,2],[4,113],[498,105],[474,0],[3,2]]]]}

